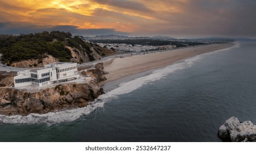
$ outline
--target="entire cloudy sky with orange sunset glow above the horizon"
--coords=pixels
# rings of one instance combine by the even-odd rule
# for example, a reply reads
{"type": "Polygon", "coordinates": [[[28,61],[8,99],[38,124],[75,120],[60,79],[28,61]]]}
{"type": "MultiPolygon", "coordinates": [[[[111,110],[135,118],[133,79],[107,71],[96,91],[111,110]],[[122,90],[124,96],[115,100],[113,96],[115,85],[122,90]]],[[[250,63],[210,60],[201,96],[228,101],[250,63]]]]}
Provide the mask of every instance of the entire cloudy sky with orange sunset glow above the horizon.
{"type": "Polygon", "coordinates": [[[0,34],[256,37],[255,0],[0,0],[0,34]]]}

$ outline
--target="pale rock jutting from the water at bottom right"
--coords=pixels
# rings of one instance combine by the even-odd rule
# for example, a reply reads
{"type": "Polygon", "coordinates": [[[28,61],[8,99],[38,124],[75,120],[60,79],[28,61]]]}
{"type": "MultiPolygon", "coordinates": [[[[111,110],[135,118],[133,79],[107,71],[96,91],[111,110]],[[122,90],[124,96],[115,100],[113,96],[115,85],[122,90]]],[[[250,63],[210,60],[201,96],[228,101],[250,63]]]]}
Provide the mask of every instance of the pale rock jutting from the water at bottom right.
{"type": "Polygon", "coordinates": [[[231,142],[252,142],[256,140],[256,125],[251,121],[240,122],[236,117],[230,117],[219,127],[220,139],[231,142]]]}

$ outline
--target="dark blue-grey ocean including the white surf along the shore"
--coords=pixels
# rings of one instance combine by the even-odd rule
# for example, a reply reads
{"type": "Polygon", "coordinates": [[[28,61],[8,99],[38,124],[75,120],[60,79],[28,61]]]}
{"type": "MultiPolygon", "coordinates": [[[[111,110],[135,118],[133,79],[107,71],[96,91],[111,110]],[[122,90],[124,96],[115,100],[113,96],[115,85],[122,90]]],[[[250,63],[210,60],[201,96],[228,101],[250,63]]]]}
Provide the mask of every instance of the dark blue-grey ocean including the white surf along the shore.
{"type": "Polygon", "coordinates": [[[256,42],[106,84],[86,108],[0,115],[1,142],[221,142],[231,116],[256,123],[256,42]]]}

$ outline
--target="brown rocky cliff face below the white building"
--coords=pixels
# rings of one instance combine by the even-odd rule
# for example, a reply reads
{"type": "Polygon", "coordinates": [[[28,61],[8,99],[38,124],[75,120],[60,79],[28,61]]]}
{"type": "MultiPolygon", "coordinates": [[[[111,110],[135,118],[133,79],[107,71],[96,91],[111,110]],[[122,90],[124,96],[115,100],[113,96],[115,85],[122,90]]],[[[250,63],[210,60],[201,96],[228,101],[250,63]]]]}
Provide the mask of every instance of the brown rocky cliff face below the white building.
{"type": "Polygon", "coordinates": [[[94,78],[83,84],[62,84],[36,93],[10,88],[0,89],[0,114],[28,115],[74,107],[86,107],[88,102],[104,93],[98,84],[104,80],[102,63],[91,69],[94,78]]]}

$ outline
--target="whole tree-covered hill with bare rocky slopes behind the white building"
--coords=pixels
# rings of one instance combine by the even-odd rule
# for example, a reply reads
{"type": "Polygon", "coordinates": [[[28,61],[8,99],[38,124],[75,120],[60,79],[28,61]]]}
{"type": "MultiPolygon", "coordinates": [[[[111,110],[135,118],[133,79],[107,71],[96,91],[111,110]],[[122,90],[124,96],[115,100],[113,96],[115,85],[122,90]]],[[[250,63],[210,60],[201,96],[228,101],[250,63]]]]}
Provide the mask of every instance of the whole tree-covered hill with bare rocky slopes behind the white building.
{"type": "Polygon", "coordinates": [[[40,67],[52,62],[84,63],[114,54],[69,32],[0,35],[2,63],[15,67],[40,67]]]}

